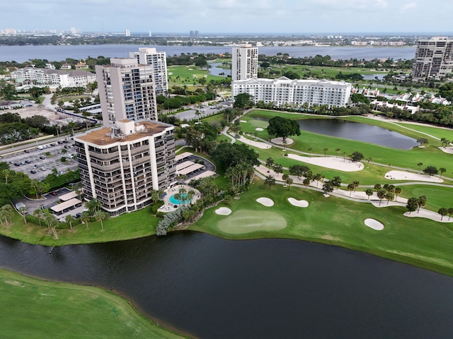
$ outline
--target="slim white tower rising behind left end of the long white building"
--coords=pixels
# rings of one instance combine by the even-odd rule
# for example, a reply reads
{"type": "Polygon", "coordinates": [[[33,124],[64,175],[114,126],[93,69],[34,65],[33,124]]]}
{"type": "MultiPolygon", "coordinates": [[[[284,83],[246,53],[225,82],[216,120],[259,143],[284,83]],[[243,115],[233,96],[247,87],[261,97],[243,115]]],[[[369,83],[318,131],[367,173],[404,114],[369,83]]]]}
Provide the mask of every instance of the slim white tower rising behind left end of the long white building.
{"type": "Polygon", "coordinates": [[[233,47],[231,80],[246,80],[258,77],[258,47],[239,44],[233,47]]]}

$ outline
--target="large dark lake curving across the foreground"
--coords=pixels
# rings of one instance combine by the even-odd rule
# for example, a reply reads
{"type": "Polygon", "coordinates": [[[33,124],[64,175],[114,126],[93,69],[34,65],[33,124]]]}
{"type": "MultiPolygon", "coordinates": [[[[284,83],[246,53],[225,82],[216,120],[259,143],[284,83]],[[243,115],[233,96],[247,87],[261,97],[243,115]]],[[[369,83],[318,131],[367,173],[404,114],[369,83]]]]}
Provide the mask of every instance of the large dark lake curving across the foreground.
{"type": "Polygon", "coordinates": [[[0,237],[0,267],[114,287],[197,338],[444,339],[453,331],[453,278],[334,246],[180,232],[49,251],[0,237]]]}

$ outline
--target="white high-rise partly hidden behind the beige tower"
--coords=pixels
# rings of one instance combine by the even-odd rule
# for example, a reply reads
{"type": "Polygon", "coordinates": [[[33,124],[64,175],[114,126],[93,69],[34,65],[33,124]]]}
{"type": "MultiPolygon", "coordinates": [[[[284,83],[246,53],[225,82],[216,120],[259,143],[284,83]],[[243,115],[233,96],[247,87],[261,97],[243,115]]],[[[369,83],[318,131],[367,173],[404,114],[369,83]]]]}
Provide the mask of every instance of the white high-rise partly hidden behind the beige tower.
{"type": "Polygon", "coordinates": [[[166,52],[157,52],[155,48],[139,48],[139,52],[130,52],[130,58],[136,58],[141,65],[154,67],[156,95],[166,95],[168,91],[166,52]]]}

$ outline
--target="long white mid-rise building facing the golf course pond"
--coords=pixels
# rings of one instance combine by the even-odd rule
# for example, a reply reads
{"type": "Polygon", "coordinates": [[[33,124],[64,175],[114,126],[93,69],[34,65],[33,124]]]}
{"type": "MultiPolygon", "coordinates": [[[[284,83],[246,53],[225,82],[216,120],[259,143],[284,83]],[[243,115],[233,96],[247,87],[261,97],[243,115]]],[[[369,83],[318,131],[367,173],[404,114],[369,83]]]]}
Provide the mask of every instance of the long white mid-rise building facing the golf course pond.
{"type": "Polygon", "coordinates": [[[258,103],[282,105],[328,105],[341,107],[348,104],[351,94],[350,83],[326,80],[291,80],[286,77],[277,79],[253,78],[232,81],[232,96],[248,93],[258,103]]]}

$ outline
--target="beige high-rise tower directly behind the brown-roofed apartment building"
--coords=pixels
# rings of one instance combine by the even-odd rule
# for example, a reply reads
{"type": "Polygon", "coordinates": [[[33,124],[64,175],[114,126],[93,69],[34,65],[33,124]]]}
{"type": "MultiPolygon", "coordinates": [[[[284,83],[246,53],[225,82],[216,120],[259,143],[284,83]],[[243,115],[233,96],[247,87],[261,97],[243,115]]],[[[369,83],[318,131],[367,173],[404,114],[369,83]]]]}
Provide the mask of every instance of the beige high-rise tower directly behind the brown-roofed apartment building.
{"type": "Polygon", "coordinates": [[[96,65],[103,125],[115,121],[157,120],[154,67],[137,59],[110,59],[110,66],[96,65]]]}

